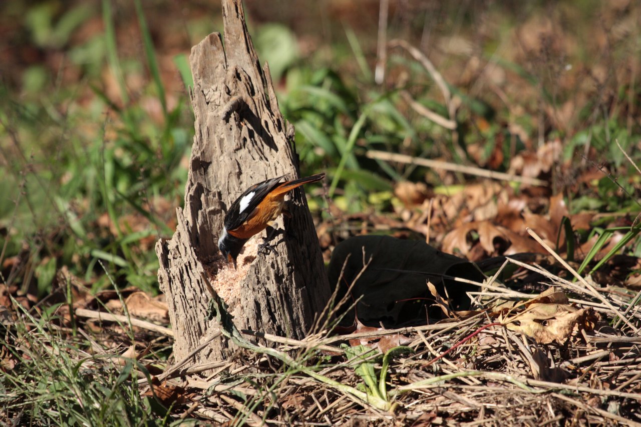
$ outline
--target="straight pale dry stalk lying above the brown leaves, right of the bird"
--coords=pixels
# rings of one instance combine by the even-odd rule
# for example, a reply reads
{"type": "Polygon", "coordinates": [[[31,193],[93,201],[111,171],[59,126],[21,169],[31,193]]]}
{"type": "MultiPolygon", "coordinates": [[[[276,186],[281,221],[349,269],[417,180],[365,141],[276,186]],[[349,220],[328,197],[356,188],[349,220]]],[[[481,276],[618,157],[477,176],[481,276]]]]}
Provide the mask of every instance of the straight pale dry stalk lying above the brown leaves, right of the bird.
{"type": "Polygon", "coordinates": [[[537,178],[521,177],[513,173],[494,172],[493,170],[481,169],[476,166],[456,165],[456,163],[449,163],[447,161],[422,159],[420,157],[407,156],[406,154],[388,153],[379,150],[368,150],[365,156],[370,159],[397,161],[400,163],[407,163],[408,165],[426,166],[433,169],[449,170],[452,172],[467,173],[469,175],[476,175],[478,177],[497,179],[499,181],[513,181],[522,182],[531,186],[547,186],[547,182],[537,178]]]}

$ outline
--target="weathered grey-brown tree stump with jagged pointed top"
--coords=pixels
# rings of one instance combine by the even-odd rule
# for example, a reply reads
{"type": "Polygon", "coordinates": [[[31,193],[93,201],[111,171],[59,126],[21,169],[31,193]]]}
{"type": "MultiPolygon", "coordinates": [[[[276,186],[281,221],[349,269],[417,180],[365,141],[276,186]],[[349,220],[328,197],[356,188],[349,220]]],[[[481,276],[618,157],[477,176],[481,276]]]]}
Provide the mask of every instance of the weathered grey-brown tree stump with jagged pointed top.
{"type": "MultiPolygon", "coordinates": [[[[224,49],[221,35],[213,33],[194,46],[190,56],[196,136],[185,208],[177,209],[172,239],[156,243],[158,280],[175,331],[176,360],[187,357],[218,328],[215,319],[208,319],[210,293],[202,273],[224,298],[240,330],[301,339],[329,298],[302,189],[290,197],[291,219],[276,223],[277,229],[287,230],[272,241],[276,250],[256,254],[250,241],[238,257],[238,271],[221,268],[217,240],[229,205],[251,184],[279,175],[299,176],[294,129],[279,111],[269,68],[260,68],[241,1],[223,0],[222,8],[224,49]]],[[[230,345],[222,337],[215,339],[194,355],[192,364],[226,359],[230,345]]]]}

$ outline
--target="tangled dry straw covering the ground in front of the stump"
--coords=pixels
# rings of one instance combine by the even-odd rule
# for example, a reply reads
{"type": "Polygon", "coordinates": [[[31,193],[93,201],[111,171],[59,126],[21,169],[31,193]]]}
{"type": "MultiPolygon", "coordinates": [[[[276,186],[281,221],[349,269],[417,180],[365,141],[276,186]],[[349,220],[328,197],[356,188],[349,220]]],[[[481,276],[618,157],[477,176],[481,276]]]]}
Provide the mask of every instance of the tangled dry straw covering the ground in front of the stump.
{"type": "Polygon", "coordinates": [[[487,326],[496,323],[496,314],[488,308],[525,296],[497,285],[475,293],[474,309],[479,312],[467,319],[333,337],[317,334],[305,341],[242,334],[262,336],[255,345],[223,313],[223,334],[245,348],[235,360],[190,367],[192,374],[181,377],[179,383],[199,396],[192,399],[197,405],[188,407],[189,415],[248,425],[637,425],[637,307],[629,307],[629,301],[610,289],[593,295],[580,284],[550,276],[576,307],[599,313],[594,330],[575,328],[561,344],[540,344],[504,325],[487,326]],[[629,325],[613,327],[613,309],[625,312],[629,325]],[[408,347],[413,353],[393,358],[387,368],[376,351],[349,359],[345,347],[337,346],[350,339],[376,341],[394,334],[411,339],[408,347]],[[363,387],[363,366],[372,369],[374,382],[385,369],[383,399],[363,387]],[[213,374],[197,373],[204,369],[213,374]]]}

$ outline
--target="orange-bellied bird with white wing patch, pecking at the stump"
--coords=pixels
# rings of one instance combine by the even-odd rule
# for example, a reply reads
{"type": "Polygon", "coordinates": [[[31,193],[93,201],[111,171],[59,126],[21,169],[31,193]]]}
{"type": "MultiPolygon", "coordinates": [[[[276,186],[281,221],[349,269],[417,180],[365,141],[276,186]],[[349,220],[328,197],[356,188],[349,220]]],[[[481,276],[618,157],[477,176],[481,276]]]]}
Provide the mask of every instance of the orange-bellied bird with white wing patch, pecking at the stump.
{"type": "MultiPolygon", "coordinates": [[[[266,229],[279,214],[290,216],[285,209],[285,195],[303,184],[320,181],[325,173],[280,182],[283,177],[285,175],[254,184],[229,207],[218,239],[218,248],[227,262],[233,262],[234,268],[237,268],[236,259],[240,250],[254,234],[266,229]]],[[[263,245],[267,245],[267,241],[269,237],[263,245]]]]}

